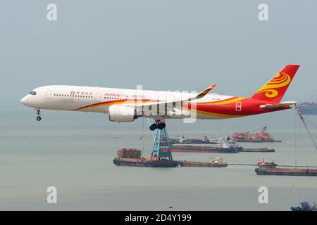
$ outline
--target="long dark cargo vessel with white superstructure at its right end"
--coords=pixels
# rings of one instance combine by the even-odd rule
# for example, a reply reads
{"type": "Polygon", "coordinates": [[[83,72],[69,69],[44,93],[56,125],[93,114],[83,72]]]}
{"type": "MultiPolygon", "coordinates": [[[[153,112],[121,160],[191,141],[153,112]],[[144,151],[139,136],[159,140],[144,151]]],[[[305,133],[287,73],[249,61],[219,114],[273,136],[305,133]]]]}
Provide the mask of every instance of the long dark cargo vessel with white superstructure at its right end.
{"type": "Polygon", "coordinates": [[[242,147],[237,143],[225,139],[217,144],[199,143],[177,143],[171,146],[172,152],[182,153],[238,153],[242,151],[242,147]]]}

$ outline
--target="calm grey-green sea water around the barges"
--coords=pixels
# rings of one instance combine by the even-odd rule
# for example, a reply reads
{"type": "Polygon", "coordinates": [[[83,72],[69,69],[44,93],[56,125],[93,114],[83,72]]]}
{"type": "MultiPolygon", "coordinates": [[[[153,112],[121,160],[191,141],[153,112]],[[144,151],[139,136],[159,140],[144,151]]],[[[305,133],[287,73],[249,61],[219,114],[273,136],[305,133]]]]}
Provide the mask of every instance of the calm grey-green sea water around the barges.
{"type": "MultiPolygon", "coordinates": [[[[317,177],[258,176],[254,167],[143,168],[116,167],[116,150],[135,147],[151,153],[147,120],[113,124],[106,115],[44,111],[35,122],[32,110],[5,111],[0,128],[0,210],[289,210],[317,202],[317,177]],[[25,112],[23,111],[23,112],[25,112]],[[14,120],[12,118],[15,118],[14,120]],[[56,186],[58,203],[46,203],[46,188],[56,186]],[[258,188],[268,187],[268,204],[259,204],[258,188]],[[173,206],[173,209],[169,209],[173,206]]],[[[313,136],[316,118],[306,117],[313,136]]],[[[169,120],[170,136],[225,136],[268,125],[282,143],[275,153],[174,153],[175,159],[228,163],[275,160],[281,165],[317,166],[313,148],[294,111],[235,120],[183,124],[169,120]],[[297,146],[297,147],[296,147],[297,146]]]]}

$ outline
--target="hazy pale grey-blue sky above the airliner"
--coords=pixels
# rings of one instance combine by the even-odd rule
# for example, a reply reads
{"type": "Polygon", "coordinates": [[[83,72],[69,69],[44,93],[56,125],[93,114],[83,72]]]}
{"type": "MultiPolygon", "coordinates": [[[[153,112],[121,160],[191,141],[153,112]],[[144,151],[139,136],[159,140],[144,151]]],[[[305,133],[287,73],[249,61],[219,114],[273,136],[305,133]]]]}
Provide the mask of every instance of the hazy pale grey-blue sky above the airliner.
{"type": "Polygon", "coordinates": [[[316,1],[1,1],[0,101],[46,84],[251,96],[301,65],[286,101],[317,100],[316,1]],[[258,20],[268,4],[269,20],[258,20]],[[46,20],[57,5],[58,20],[46,20]]]}

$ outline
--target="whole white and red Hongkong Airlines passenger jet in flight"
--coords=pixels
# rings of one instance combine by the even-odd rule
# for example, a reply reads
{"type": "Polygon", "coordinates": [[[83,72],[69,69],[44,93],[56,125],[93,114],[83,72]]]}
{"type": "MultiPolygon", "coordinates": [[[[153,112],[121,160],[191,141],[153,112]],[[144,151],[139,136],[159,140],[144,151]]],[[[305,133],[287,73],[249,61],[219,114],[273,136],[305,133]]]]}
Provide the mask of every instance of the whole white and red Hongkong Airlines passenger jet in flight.
{"type": "Polygon", "coordinates": [[[113,122],[151,117],[156,122],[150,129],[163,129],[164,119],[187,118],[193,112],[197,119],[216,120],[290,109],[296,102],[281,100],[298,68],[286,65],[249,98],[208,94],[216,84],[199,94],[54,85],[32,90],[21,103],[37,110],[37,121],[41,120],[41,109],[70,110],[108,113],[113,122]]]}

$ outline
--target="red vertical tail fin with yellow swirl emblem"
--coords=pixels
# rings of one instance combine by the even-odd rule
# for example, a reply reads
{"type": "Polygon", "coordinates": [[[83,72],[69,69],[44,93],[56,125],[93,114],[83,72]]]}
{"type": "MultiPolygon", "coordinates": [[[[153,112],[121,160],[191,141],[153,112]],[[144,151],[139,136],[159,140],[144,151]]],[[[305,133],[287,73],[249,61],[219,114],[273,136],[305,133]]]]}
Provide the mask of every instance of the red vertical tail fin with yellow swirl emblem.
{"type": "Polygon", "coordinates": [[[280,70],[280,72],[278,72],[278,74],[275,75],[268,83],[262,86],[259,91],[256,91],[251,98],[279,103],[282,100],[288,86],[290,86],[298,68],[299,65],[285,65],[285,68],[280,70]]]}

